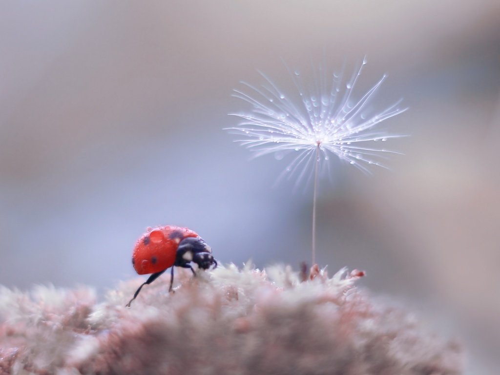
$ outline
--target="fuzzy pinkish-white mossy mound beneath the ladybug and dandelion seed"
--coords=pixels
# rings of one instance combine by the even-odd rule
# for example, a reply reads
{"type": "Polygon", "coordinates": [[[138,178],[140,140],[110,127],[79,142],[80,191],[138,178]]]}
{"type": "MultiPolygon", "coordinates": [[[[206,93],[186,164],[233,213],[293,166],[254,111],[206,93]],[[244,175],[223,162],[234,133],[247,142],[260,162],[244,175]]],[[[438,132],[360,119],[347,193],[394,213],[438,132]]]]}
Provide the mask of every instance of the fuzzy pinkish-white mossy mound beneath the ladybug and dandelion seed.
{"type": "Polygon", "coordinates": [[[454,341],[354,287],[362,272],[304,280],[290,267],[176,269],[146,285],[0,292],[1,374],[462,373],[454,341]],[[163,281],[163,282],[162,282],[163,281]]]}

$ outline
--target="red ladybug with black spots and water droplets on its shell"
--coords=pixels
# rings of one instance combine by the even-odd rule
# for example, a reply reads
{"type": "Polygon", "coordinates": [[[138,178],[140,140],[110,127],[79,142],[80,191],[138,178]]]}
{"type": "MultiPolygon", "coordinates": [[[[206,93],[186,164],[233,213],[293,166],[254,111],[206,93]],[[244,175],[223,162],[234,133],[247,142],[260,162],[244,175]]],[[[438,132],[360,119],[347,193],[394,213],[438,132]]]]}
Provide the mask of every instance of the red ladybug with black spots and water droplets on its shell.
{"type": "Polygon", "coordinates": [[[151,275],[139,286],[126,306],[130,307],[130,303],[137,297],[142,286],[153,282],[168,267],[171,267],[168,291],[172,290],[174,265],[190,268],[196,276],[190,262],[196,263],[198,268],[202,269],[207,269],[211,265],[217,266],[217,261],[212,256],[212,249],[193,230],[174,225],[148,228],[147,232],[135,242],[132,265],[138,274],[151,273],[151,275]]]}

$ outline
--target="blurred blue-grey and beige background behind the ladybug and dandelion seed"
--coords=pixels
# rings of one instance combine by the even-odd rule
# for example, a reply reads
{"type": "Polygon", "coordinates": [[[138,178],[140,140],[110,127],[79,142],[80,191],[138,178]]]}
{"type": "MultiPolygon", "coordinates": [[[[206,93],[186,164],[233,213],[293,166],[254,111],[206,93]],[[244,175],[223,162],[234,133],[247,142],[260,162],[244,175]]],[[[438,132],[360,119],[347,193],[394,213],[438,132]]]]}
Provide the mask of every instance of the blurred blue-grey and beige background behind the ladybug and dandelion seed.
{"type": "MultiPolygon", "coordinates": [[[[272,187],[286,159],[222,130],[249,109],[240,80],[366,54],[358,89],[410,110],[384,128],[403,152],[365,175],[331,160],[317,260],[459,338],[468,373],[500,361],[500,2],[3,1],[0,283],[135,277],[146,226],[196,230],[223,263],[310,258],[312,186],[272,187]],[[304,190],[305,191],[302,191],[304,190]]],[[[164,281],[164,280],[163,280],[164,281]]]]}

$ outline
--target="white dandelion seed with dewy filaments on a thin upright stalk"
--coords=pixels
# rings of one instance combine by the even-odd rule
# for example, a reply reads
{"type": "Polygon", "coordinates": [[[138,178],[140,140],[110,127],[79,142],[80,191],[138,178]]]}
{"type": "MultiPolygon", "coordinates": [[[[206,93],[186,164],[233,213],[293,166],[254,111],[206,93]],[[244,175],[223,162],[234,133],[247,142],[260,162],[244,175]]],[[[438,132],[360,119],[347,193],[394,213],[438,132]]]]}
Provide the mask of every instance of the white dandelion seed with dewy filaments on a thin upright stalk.
{"type": "Polygon", "coordinates": [[[366,93],[353,99],[353,88],[361,74],[366,58],[347,82],[342,75],[333,73],[327,77],[322,68],[314,74],[313,84],[308,88],[301,79],[299,70],[291,71],[291,80],[298,92],[298,105],[289,94],[284,93],[264,73],[261,86],[241,82],[243,89],[235,89],[233,96],[240,98],[252,108],[249,111],[230,113],[242,121],[227,128],[242,135],[237,142],[247,146],[253,156],[273,153],[277,159],[288,152],[293,157],[278,179],[287,175],[297,177],[297,183],[305,178],[314,179],[312,208],[312,264],[315,263],[315,217],[319,168],[328,168],[329,155],[336,155],[349,164],[370,172],[368,164],[385,167],[385,154],[399,153],[372,144],[401,135],[387,134],[373,128],[378,123],[404,112],[400,100],[382,110],[374,110],[370,104],[384,74],[366,93]],[[324,162],[321,162],[323,160],[324,162]]]}

